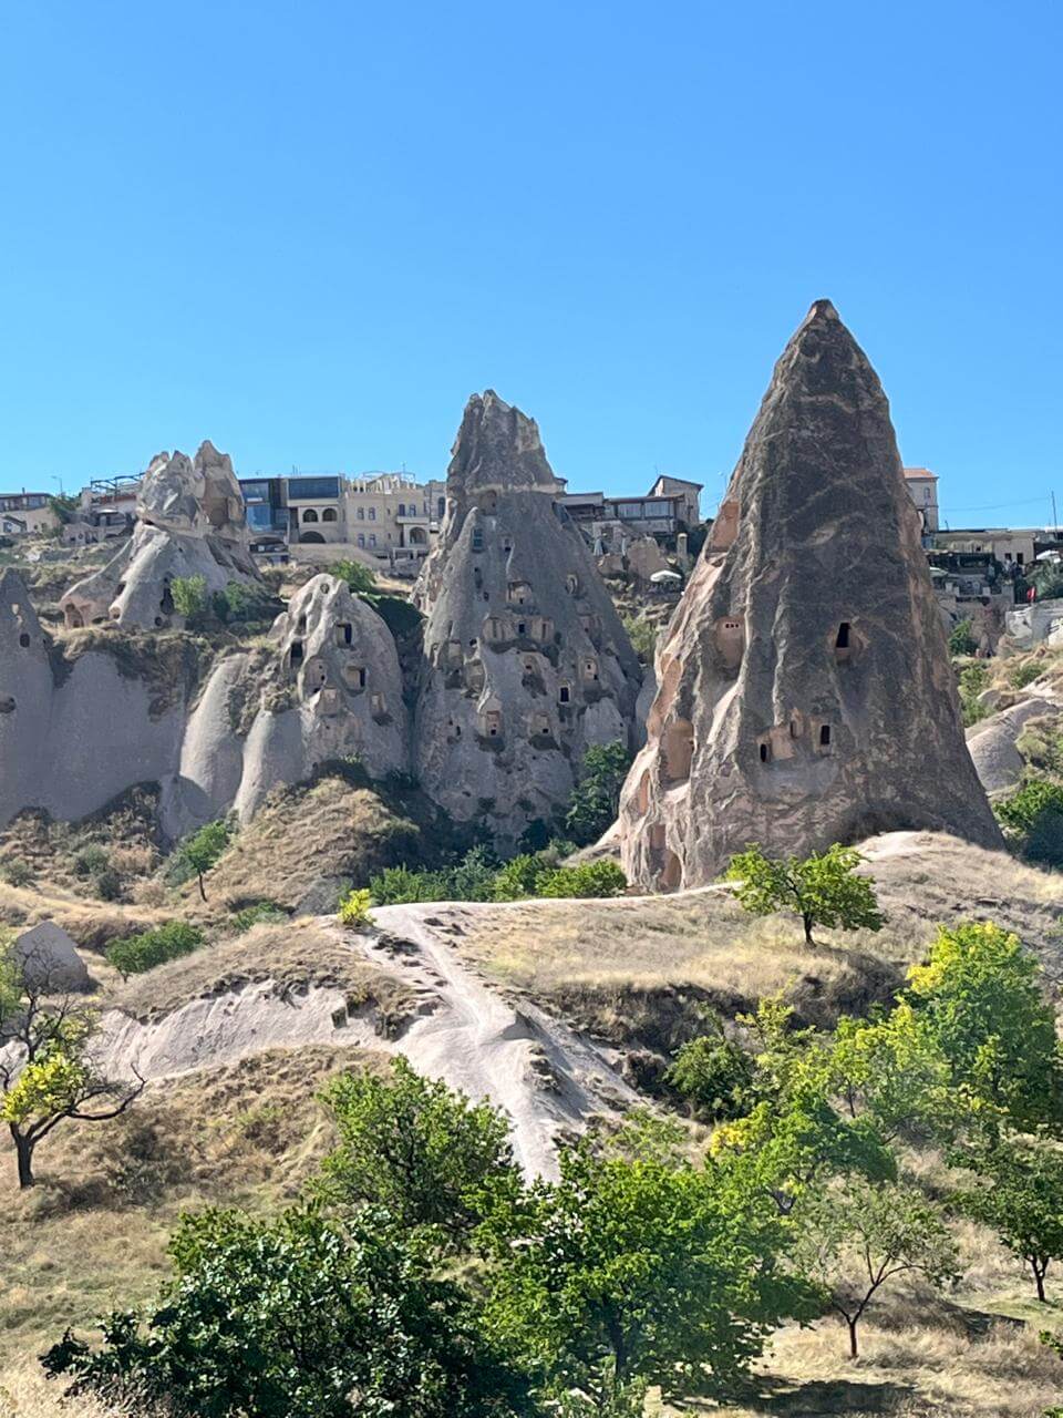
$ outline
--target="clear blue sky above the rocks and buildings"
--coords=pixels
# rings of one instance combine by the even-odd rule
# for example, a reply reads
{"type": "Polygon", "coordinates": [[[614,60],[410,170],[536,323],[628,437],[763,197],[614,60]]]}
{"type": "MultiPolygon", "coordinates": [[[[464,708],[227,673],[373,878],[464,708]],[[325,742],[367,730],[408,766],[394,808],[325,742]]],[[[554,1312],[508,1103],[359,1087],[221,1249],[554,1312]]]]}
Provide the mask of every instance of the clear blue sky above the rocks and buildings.
{"type": "Polygon", "coordinates": [[[719,496],[829,296],[954,526],[1060,462],[1057,0],[0,0],[0,489],[210,437],[719,496]]]}

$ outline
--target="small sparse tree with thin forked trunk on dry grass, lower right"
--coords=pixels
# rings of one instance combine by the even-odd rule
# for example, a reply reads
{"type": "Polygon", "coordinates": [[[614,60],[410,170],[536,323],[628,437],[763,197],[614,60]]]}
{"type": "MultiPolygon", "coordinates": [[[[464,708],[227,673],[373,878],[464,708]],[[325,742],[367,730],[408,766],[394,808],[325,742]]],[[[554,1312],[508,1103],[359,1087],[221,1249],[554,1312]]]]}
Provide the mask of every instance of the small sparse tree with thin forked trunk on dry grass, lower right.
{"type": "Polygon", "coordinates": [[[846,1323],[852,1358],[857,1326],[884,1285],[911,1272],[943,1285],[957,1273],[948,1227],[916,1187],[839,1177],[812,1200],[806,1222],[805,1258],[846,1323]]]}

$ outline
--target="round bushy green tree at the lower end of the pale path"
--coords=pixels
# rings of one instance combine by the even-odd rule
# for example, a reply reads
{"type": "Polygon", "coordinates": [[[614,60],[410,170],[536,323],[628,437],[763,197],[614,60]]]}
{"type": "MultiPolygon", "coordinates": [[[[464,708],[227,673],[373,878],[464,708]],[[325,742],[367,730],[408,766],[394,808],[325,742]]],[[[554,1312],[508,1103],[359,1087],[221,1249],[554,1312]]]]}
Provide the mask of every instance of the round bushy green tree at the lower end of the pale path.
{"type": "Polygon", "coordinates": [[[386,1207],[403,1228],[428,1228],[462,1251],[486,1215],[520,1191],[509,1122],[404,1058],[391,1073],[343,1073],[322,1093],[340,1144],[322,1166],[322,1190],[343,1205],[386,1207]]]}

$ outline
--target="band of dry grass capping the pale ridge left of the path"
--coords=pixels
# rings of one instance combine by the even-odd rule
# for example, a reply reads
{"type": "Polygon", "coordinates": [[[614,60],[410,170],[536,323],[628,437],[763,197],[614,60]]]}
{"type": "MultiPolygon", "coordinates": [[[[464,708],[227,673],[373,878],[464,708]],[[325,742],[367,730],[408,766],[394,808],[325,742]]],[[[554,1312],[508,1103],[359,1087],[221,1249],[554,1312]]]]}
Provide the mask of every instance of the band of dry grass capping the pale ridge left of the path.
{"type": "Polygon", "coordinates": [[[309,917],[259,925],[242,936],[115,984],[108,1004],[139,1020],[160,1018],[190,1000],[274,980],[279,994],[308,984],[343,990],[356,1008],[371,1005],[383,1034],[394,1037],[417,1010],[415,993],[397,976],[363,960],[339,930],[309,917]]]}

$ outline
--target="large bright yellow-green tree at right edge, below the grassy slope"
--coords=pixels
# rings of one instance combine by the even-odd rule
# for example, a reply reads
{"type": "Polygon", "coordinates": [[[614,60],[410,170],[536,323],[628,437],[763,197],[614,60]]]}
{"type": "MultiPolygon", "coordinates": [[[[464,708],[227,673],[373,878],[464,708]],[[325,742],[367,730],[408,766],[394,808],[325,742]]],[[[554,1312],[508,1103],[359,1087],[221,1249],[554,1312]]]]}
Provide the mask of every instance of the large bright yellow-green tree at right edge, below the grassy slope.
{"type": "Polygon", "coordinates": [[[1040,966],[1018,936],[991,922],[940,927],[927,964],[909,971],[903,1000],[988,1124],[1063,1122],[1054,1017],[1040,966]]]}

